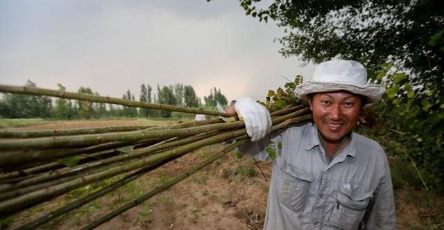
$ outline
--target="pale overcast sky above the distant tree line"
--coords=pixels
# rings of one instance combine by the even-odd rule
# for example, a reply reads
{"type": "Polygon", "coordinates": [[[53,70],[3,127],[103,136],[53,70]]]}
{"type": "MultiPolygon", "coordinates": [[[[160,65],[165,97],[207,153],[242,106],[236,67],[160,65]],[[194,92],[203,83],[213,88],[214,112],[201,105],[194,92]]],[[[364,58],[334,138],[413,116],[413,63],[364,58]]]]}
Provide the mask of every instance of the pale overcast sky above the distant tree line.
{"type": "Polygon", "coordinates": [[[67,91],[90,87],[103,96],[140,85],[220,88],[228,100],[311,76],[273,42],[282,28],[246,17],[237,0],[0,1],[0,84],[67,91]]]}

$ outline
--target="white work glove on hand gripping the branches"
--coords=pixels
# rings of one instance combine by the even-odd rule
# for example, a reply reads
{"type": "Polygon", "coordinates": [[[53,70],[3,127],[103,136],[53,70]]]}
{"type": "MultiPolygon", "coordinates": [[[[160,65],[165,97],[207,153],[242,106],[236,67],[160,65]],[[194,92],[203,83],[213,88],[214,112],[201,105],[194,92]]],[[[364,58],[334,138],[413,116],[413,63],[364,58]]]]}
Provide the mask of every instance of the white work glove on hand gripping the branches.
{"type": "Polygon", "coordinates": [[[259,141],[271,130],[271,116],[266,107],[251,97],[239,98],[234,105],[237,115],[245,123],[251,141],[259,141]]]}

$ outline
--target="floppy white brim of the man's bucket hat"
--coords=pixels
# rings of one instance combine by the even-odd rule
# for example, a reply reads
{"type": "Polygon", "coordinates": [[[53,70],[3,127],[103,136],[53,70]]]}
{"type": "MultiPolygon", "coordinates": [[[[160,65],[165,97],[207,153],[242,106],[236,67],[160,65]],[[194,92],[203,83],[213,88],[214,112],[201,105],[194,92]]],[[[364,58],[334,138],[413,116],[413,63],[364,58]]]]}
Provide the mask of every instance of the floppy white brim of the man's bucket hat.
{"type": "Polygon", "coordinates": [[[382,95],[384,95],[386,91],[386,89],[380,85],[366,85],[364,87],[358,87],[356,85],[348,85],[343,83],[307,81],[296,87],[295,94],[300,99],[307,100],[308,94],[341,90],[350,91],[352,94],[366,96],[368,104],[373,104],[378,100],[381,100],[382,95]]]}

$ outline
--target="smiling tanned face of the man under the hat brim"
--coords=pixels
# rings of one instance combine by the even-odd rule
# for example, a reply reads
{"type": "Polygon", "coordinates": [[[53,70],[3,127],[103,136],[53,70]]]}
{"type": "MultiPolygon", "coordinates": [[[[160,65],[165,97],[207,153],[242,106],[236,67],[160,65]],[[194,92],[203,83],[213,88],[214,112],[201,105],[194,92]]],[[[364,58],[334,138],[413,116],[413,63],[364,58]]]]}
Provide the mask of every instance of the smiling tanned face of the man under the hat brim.
{"type": "Polygon", "coordinates": [[[313,120],[325,141],[335,143],[355,127],[361,98],[348,91],[314,94],[309,100],[313,120]]]}

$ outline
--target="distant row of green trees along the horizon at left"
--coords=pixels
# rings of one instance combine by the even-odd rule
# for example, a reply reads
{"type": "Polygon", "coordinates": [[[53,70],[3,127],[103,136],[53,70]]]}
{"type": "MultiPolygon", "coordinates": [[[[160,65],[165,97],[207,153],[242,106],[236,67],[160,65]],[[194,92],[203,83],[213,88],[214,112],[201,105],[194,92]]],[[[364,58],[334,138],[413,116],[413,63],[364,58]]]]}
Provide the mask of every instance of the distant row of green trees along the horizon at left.
{"type": "MultiPolygon", "coordinates": [[[[27,87],[37,87],[35,82],[28,80],[27,87]]],[[[66,91],[66,87],[58,84],[58,90],[66,91]]],[[[89,87],[80,87],[77,91],[81,94],[92,94],[99,96],[89,87]]],[[[128,89],[122,95],[123,99],[136,100],[135,95],[128,89]]],[[[182,107],[200,108],[215,107],[216,101],[221,105],[227,105],[227,98],[221,93],[221,89],[210,89],[210,94],[204,96],[204,104],[191,85],[157,85],[157,94],[153,93],[151,85],[140,85],[139,101],[146,103],[159,103],[167,105],[178,105],[182,107]]],[[[69,100],[56,98],[53,100],[48,96],[29,96],[23,94],[4,94],[0,100],[1,118],[106,118],[106,117],[171,117],[169,111],[158,111],[153,109],[139,109],[121,105],[105,103],[92,103],[87,101],[69,100]]]]}

